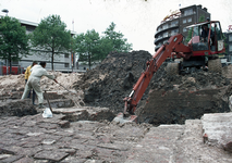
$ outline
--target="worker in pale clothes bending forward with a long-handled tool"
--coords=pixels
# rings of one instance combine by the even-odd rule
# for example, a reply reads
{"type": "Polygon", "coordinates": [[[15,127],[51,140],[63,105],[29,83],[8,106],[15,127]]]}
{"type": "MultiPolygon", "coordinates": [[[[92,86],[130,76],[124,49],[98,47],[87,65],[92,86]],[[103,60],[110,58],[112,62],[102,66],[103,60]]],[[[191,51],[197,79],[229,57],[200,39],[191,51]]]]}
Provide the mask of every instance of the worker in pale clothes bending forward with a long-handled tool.
{"type": "Polygon", "coordinates": [[[48,72],[45,70],[46,67],[46,62],[40,62],[39,63],[40,65],[34,65],[32,68],[30,68],[30,76],[28,78],[28,82],[26,83],[26,86],[25,86],[25,89],[24,89],[24,92],[23,92],[23,96],[21,99],[26,99],[30,89],[33,88],[38,97],[38,103],[39,103],[39,109],[42,109],[45,108],[42,105],[44,103],[44,96],[42,96],[42,91],[41,91],[41,88],[40,88],[40,79],[42,76],[47,76],[48,78],[50,79],[53,79],[56,83],[58,83],[56,79],[54,79],[54,76],[53,75],[49,75],[48,72]]]}

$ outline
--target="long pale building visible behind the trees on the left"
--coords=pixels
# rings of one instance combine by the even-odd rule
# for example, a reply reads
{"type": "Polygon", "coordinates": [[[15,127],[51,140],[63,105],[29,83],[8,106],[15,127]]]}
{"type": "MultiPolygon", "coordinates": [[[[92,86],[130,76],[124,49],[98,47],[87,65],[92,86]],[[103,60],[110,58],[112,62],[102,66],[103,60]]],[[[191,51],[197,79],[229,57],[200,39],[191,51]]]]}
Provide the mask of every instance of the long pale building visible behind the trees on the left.
{"type": "MultiPolygon", "coordinates": [[[[26,34],[30,34],[35,30],[38,24],[33,22],[27,22],[23,20],[19,20],[22,26],[26,27],[26,34]]],[[[71,35],[73,36],[74,33],[72,32],[71,35]]],[[[46,70],[51,70],[51,58],[46,54],[46,51],[42,49],[32,48],[29,53],[32,55],[27,55],[26,58],[23,57],[20,61],[12,62],[12,66],[21,66],[26,70],[28,65],[33,63],[33,61],[45,61],[46,70]]],[[[53,71],[59,71],[63,73],[72,73],[72,72],[80,72],[76,66],[76,58],[75,54],[71,51],[61,52],[60,55],[54,55],[53,61],[53,71]]],[[[2,61],[4,65],[8,65],[7,61],[2,61]]]]}

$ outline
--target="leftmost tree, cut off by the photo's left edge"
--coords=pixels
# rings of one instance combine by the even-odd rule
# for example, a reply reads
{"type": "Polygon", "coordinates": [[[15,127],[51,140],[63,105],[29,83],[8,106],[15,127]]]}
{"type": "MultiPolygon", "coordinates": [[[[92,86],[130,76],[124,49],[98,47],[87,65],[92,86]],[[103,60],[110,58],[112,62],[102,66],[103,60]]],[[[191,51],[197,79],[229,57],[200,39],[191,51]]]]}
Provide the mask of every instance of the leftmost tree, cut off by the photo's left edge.
{"type": "Polygon", "coordinates": [[[12,73],[12,61],[20,61],[28,55],[28,36],[25,26],[14,18],[4,16],[0,20],[0,59],[10,63],[12,73]]]}

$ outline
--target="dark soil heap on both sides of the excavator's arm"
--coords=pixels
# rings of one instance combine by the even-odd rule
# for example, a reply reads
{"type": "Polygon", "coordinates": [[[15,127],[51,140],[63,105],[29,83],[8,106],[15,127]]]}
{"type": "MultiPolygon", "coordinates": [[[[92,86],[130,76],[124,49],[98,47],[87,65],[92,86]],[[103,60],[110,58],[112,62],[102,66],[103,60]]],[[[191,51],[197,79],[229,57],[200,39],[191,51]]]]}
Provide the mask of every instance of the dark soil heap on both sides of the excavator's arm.
{"type": "MultiPolygon", "coordinates": [[[[87,105],[110,108],[117,114],[123,111],[123,99],[132,91],[148,59],[151,55],[147,51],[112,52],[85,73],[74,88],[84,90],[87,105]]],[[[172,77],[167,76],[166,66],[163,63],[156,72],[137,105],[141,123],[183,124],[204,113],[230,111],[228,97],[232,91],[228,72],[232,66],[223,67],[222,74],[198,70],[172,77]]]]}

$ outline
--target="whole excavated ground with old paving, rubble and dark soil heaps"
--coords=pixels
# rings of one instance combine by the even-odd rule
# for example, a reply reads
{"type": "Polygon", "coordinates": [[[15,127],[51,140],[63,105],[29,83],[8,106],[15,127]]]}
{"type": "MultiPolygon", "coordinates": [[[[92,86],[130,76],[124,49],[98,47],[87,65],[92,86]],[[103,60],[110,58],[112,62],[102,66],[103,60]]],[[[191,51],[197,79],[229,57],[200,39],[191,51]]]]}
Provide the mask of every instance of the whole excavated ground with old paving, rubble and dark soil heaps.
{"type": "Polygon", "coordinates": [[[134,114],[115,122],[124,98],[151,59],[147,51],[111,52],[85,73],[42,77],[44,105],[22,100],[24,74],[0,76],[0,162],[229,163],[232,162],[232,65],[154,74],[134,114]]]}

